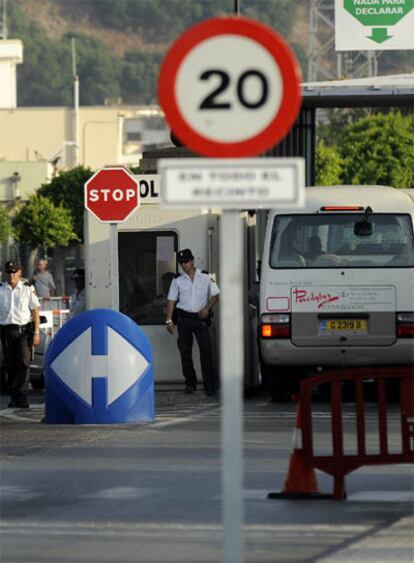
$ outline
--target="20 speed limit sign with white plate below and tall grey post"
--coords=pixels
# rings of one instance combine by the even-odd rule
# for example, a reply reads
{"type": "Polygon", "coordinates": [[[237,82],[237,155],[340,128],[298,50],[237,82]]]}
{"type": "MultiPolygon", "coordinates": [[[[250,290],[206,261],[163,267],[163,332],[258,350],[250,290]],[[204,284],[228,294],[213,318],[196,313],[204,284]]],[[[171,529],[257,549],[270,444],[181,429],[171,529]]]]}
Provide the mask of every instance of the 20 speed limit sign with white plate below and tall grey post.
{"type": "Polygon", "coordinates": [[[214,18],[173,44],[161,67],[159,98],[185,146],[220,158],[165,159],[158,168],[165,206],[224,208],[219,262],[224,561],[242,563],[243,237],[236,209],[270,206],[278,200],[275,191],[284,188],[295,206],[304,186],[303,162],[282,171],[276,163],[271,169],[267,159],[241,157],[263,153],[288,133],[301,103],[299,65],[271,28],[244,17],[214,18]]]}

